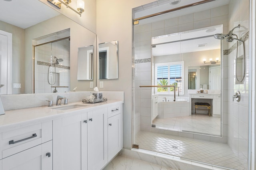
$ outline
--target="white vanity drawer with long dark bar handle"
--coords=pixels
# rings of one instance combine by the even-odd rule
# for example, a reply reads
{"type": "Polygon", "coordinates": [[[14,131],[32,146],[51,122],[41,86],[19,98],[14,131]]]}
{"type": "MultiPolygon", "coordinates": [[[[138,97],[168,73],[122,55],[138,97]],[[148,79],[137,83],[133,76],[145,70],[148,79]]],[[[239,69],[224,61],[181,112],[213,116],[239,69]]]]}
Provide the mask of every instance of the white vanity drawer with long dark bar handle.
{"type": "Polygon", "coordinates": [[[6,158],[52,140],[52,121],[2,132],[2,156],[6,158]]]}

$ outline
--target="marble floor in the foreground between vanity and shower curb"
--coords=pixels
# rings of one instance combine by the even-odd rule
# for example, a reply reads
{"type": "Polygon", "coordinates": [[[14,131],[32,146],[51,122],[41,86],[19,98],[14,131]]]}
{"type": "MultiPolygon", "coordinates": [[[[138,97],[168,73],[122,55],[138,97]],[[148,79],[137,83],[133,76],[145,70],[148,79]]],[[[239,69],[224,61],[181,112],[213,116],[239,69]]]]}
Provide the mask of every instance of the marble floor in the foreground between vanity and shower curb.
{"type": "Polygon", "coordinates": [[[142,160],[117,155],[103,170],[174,170],[142,160]]]}

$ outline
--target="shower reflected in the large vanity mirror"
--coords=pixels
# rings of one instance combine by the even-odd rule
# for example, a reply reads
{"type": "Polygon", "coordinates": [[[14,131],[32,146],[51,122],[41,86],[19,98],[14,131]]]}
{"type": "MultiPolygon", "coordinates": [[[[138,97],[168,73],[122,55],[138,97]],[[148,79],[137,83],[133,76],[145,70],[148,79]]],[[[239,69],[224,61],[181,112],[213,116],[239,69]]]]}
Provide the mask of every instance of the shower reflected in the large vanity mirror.
{"type": "Polygon", "coordinates": [[[34,93],[70,91],[70,29],[34,40],[34,93]]]}

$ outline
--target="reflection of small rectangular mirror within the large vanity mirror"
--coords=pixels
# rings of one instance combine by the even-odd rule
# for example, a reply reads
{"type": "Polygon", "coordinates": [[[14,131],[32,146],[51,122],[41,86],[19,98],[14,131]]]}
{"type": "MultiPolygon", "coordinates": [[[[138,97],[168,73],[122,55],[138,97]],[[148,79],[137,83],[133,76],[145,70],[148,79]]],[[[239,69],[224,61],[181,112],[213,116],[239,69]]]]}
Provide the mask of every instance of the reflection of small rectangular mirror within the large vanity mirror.
{"type": "Polygon", "coordinates": [[[77,59],[77,79],[92,80],[93,79],[93,59],[94,45],[78,48],[77,59]]]}

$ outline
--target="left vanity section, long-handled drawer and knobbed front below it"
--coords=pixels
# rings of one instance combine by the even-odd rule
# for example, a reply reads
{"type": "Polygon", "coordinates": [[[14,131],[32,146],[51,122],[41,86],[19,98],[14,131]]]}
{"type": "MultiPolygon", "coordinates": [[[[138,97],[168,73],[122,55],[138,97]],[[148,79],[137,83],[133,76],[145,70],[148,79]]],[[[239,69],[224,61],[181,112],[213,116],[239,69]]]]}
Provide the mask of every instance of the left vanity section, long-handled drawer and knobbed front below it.
{"type": "Polygon", "coordinates": [[[52,121],[2,132],[2,170],[52,170],[52,121]]]}

